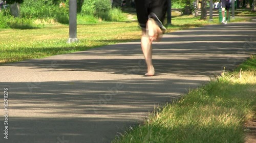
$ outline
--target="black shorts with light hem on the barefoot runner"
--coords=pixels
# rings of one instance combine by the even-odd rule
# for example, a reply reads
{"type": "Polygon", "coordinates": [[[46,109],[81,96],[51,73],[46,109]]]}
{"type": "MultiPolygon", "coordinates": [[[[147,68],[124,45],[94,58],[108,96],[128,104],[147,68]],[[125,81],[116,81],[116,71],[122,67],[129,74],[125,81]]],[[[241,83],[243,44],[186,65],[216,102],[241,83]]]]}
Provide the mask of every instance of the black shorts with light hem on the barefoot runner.
{"type": "Polygon", "coordinates": [[[167,12],[167,0],[135,0],[137,18],[140,26],[146,28],[148,18],[153,18],[162,30],[167,12]]]}

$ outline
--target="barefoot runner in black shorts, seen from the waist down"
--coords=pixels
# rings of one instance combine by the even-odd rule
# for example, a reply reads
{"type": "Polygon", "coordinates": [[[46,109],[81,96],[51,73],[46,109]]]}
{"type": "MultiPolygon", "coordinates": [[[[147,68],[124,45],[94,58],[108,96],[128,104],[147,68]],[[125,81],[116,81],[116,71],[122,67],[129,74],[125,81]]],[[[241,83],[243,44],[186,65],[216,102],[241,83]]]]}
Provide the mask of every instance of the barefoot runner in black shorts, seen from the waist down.
{"type": "Polygon", "coordinates": [[[154,76],[152,42],[159,41],[166,30],[163,25],[167,12],[167,0],[135,0],[138,22],[141,26],[141,48],[147,65],[145,76],[154,76]]]}

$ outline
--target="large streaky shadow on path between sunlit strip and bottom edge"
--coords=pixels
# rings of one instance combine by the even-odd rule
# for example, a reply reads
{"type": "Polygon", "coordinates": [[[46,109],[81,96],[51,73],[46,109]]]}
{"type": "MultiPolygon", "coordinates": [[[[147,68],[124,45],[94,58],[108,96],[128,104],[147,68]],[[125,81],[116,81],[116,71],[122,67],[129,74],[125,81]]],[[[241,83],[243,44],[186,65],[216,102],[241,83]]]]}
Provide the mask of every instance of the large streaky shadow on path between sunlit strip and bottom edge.
{"type": "Polygon", "coordinates": [[[1,82],[9,91],[7,142],[56,143],[62,136],[72,143],[110,142],[118,132],[143,122],[154,105],[180,98],[188,84],[196,88],[202,81],[1,82]]]}

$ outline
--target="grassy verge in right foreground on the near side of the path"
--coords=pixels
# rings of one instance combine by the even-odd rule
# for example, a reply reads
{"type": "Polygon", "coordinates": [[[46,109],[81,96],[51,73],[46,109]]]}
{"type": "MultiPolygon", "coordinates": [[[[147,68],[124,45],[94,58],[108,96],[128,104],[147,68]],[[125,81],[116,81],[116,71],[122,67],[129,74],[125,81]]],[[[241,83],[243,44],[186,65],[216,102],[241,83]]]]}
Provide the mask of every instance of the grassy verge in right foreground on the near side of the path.
{"type": "Polygon", "coordinates": [[[244,122],[256,111],[255,63],[254,55],[236,71],[223,72],[178,102],[157,108],[144,125],[113,143],[244,142],[244,122]]]}

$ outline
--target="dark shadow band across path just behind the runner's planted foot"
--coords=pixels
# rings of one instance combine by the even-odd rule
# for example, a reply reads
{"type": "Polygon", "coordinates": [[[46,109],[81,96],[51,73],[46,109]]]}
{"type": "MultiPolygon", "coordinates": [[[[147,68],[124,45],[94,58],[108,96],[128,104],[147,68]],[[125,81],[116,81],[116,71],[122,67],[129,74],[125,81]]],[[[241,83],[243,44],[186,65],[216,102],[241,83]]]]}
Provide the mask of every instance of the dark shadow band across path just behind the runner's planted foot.
{"type": "MultiPolygon", "coordinates": [[[[226,49],[228,52],[230,49],[226,49]]],[[[200,51],[200,49],[198,49],[200,51]]],[[[221,52],[221,51],[219,51],[221,52]]],[[[207,58],[185,58],[182,53],[173,51],[173,54],[179,54],[170,59],[164,59],[169,56],[162,51],[163,59],[155,59],[156,74],[179,74],[188,75],[204,75],[212,76],[219,73],[226,67],[226,70],[233,69],[241,63],[243,58],[234,58],[227,56],[208,56],[207,58]],[[225,62],[225,63],[224,63],[225,62]]],[[[190,54],[194,52],[191,51],[190,54]]],[[[196,54],[200,54],[197,52],[196,54]]],[[[210,54],[210,52],[209,52],[210,54]]],[[[231,52],[230,52],[231,54],[231,52]]],[[[126,53],[126,55],[128,55],[126,53]]],[[[86,55],[84,55],[86,56],[86,55]]],[[[118,55],[117,55],[118,56],[118,55]]],[[[22,62],[17,66],[25,66],[29,68],[41,68],[42,72],[59,72],[59,71],[89,71],[89,72],[106,72],[111,74],[135,74],[143,75],[146,66],[144,61],[138,59],[84,59],[84,60],[36,60],[34,62],[22,62]],[[52,66],[52,63],[54,65],[52,66]],[[141,63],[141,65],[138,65],[141,63]]]]}

